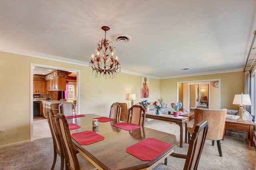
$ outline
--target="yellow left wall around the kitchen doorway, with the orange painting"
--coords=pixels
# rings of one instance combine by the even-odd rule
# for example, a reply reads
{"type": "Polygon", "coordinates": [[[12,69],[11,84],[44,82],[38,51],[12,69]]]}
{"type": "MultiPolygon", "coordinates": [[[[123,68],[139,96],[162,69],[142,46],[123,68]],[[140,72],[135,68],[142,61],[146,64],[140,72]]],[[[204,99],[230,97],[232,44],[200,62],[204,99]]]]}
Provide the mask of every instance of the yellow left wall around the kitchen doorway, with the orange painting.
{"type": "MultiPolygon", "coordinates": [[[[30,140],[30,63],[80,70],[82,114],[109,116],[110,106],[114,102],[126,102],[130,107],[130,93],[137,96],[134,104],[142,101],[140,76],[120,73],[115,79],[105,80],[103,77],[94,78],[92,69],[87,66],[0,52],[0,129],[6,130],[0,134],[0,147],[30,140]]],[[[149,82],[148,100],[155,101],[160,97],[160,80],[150,78],[149,82]]]]}

